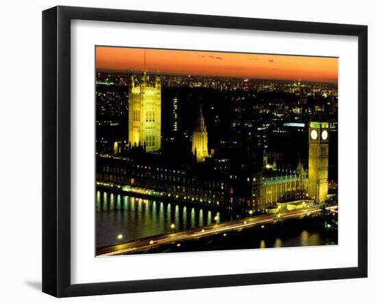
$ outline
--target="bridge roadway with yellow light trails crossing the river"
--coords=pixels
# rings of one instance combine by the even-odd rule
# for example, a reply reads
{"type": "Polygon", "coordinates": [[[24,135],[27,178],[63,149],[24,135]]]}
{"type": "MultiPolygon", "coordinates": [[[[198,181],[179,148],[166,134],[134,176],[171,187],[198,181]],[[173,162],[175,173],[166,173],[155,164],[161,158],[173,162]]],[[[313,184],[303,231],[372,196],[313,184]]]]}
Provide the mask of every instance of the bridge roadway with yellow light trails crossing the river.
{"type": "MultiPolygon", "coordinates": [[[[337,212],[337,206],[327,207],[327,209],[337,212]]],[[[265,224],[303,218],[305,215],[313,215],[315,213],[319,213],[320,211],[321,209],[319,209],[318,207],[304,208],[277,214],[258,215],[254,218],[237,219],[218,224],[202,226],[200,228],[191,230],[183,230],[163,235],[145,237],[143,239],[138,239],[135,241],[129,241],[126,243],[119,243],[113,246],[99,248],[97,250],[97,256],[117,256],[122,254],[143,252],[152,248],[158,248],[159,246],[166,246],[169,244],[180,243],[201,237],[209,237],[211,235],[217,235],[219,233],[229,233],[234,230],[242,230],[243,228],[252,228],[254,226],[260,226],[261,228],[264,228],[265,224]]]]}

